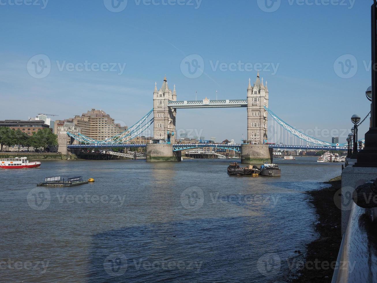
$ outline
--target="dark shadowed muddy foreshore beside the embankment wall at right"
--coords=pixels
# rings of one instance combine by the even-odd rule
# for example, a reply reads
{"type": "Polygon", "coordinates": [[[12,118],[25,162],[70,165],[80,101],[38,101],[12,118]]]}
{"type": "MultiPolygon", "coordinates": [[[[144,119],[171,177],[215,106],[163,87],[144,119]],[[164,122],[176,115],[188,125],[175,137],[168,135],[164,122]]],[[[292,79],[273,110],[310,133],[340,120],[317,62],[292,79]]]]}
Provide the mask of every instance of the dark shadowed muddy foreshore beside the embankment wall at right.
{"type": "Polygon", "coordinates": [[[336,206],[336,203],[340,203],[336,198],[340,198],[338,191],[341,188],[341,177],[325,183],[331,186],[307,192],[319,217],[315,225],[319,238],[307,245],[305,266],[299,272],[299,276],[291,281],[292,283],[331,282],[333,277],[334,269],[331,266],[334,266],[337,260],[342,241],[341,210],[336,206]]]}

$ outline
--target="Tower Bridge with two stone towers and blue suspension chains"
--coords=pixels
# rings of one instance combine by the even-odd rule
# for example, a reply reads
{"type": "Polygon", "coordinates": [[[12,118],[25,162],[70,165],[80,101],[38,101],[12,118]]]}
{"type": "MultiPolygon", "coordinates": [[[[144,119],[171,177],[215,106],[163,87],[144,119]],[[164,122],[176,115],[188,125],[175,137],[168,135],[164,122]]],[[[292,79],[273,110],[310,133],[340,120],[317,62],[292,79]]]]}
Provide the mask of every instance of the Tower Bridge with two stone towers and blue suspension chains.
{"type": "MultiPolygon", "coordinates": [[[[177,100],[175,85],[170,89],[166,77],[162,82],[160,89],[153,91],[153,109],[144,117],[131,126],[126,131],[107,140],[94,140],[80,133],[80,129],[63,129],[58,131],[63,138],[63,144],[59,143],[59,151],[63,153],[74,151],[80,148],[146,148],[147,161],[177,161],[181,160],[181,151],[194,148],[218,147],[241,152],[241,161],[243,163],[263,163],[272,160],[273,148],[279,149],[315,149],[315,150],[346,150],[345,144],[333,144],[318,138],[311,137],[298,131],[290,126],[284,120],[279,118],[271,109],[268,108],[269,91],[267,82],[259,77],[259,72],[255,82],[252,84],[249,79],[246,99],[232,100],[210,100],[207,97],[195,101],[177,100]],[[177,109],[190,108],[246,108],[247,110],[247,139],[242,144],[224,145],[224,144],[180,144],[177,143],[176,134],[176,114],[177,109]],[[149,116],[152,115],[150,118],[149,116]],[[279,143],[270,141],[268,143],[267,124],[268,115],[273,118],[275,125],[279,128],[279,143]],[[129,142],[143,134],[153,124],[153,143],[134,145],[129,142]],[[285,143],[280,142],[280,129],[285,130],[285,143]],[[70,137],[69,145],[64,144],[64,138],[70,137]],[[288,143],[287,143],[288,135],[288,143]],[[290,143],[292,137],[292,144],[290,143]],[[299,138],[300,145],[293,143],[293,138],[299,138]],[[284,143],[284,145],[283,145],[284,143]],[[306,145],[305,145],[306,143],[306,145]]],[[[283,137],[283,132],[282,132],[283,137]]],[[[282,140],[283,141],[283,138],[282,140]]]]}

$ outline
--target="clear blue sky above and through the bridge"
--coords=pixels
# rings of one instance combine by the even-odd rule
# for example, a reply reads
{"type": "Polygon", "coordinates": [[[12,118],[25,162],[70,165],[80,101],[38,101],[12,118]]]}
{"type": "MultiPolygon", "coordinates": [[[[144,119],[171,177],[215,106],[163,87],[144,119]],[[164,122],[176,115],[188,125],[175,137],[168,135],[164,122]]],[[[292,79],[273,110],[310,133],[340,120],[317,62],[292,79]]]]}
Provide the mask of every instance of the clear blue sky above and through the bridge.
{"type": "MultiPolygon", "coordinates": [[[[196,91],[216,99],[216,90],[218,99],[245,99],[261,69],[270,109],[297,129],[325,129],[324,140],[326,129],[340,131],[345,142],[351,115],[370,110],[371,4],[0,0],[0,120],[96,108],[130,126],[152,109],[165,74],[178,100],[196,91]]],[[[246,118],[245,108],[179,109],[176,128],[240,141],[246,118]]]]}

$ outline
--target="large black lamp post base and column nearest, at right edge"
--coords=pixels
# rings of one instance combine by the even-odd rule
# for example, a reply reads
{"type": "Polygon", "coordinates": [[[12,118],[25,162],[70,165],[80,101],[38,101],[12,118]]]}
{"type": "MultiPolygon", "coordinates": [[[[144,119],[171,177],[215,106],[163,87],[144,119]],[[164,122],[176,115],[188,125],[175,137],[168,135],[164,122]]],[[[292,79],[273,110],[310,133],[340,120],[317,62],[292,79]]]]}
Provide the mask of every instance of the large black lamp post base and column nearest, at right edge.
{"type": "MultiPolygon", "coordinates": [[[[365,147],[357,155],[356,167],[377,167],[377,0],[371,6],[372,99],[371,127],[365,133],[365,147]]],[[[368,94],[367,94],[368,96],[368,94]]]]}

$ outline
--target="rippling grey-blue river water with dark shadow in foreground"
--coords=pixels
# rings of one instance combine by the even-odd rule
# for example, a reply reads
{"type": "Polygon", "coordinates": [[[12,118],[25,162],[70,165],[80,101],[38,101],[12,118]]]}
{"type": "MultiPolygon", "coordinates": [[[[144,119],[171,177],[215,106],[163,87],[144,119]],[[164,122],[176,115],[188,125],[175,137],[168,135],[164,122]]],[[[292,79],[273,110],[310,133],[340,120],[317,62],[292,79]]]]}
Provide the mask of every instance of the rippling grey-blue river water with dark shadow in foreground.
{"type": "Polygon", "coordinates": [[[283,282],[314,240],[305,191],[341,174],[314,157],[282,177],[228,176],[229,160],[43,161],[0,171],[3,282],[283,282]],[[82,175],[66,188],[44,177],[82,175]]]}

